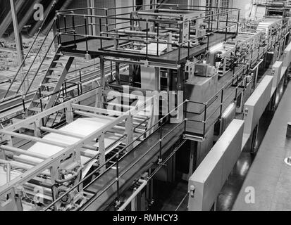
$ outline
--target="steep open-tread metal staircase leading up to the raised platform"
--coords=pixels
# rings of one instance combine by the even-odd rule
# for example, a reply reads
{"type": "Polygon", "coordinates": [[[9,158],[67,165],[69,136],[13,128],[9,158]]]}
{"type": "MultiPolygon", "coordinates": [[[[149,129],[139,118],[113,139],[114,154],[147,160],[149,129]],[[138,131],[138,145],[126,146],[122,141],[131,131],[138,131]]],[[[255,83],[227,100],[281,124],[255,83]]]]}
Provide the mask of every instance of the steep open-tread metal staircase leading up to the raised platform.
{"type": "Polygon", "coordinates": [[[28,116],[35,115],[35,113],[40,113],[43,110],[54,106],[58,97],[58,91],[61,90],[62,84],[66,79],[66,75],[68,74],[70,66],[74,60],[73,57],[61,58],[61,56],[62,53],[59,46],[54,59],[51,61],[51,64],[44,75],[42,84],[30,103],[27,112],[28,116]]]}

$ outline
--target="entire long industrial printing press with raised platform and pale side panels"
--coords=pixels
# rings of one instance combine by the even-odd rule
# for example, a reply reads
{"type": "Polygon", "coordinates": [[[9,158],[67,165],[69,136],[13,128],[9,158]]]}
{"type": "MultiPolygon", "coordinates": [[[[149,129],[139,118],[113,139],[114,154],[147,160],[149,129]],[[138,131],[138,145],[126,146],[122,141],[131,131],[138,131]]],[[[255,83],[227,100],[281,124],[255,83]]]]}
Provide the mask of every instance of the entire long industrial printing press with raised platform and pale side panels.
{"type": "Polygon", "coordinates": [[[237,8],[159,4],[60,10],[51,26],[41,87],[0,129],[0,210],[150,210],[177,171],[188,210],[211,210],[287,77],[289,18],[246,31],[237,8]],[[74,58],[98,58],[100,77],[59,101],[74,58]]]}

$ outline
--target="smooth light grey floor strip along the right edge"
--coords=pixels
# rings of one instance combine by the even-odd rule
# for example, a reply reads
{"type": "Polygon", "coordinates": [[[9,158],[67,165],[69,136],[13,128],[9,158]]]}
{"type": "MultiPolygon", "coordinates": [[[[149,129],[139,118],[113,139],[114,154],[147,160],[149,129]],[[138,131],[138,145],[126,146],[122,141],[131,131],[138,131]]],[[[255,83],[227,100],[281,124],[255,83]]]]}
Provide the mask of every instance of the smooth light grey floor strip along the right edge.
{"type": "MultiPolygon", "coordinates": [[[[291,210],[291,140],[286,137],[291,122],[291,84],[278,105],[263,142],[256,153],[233,210],[291,210]],[[254,188],[254,201],[245,201],[247,187],[254,188]]],[[[248,195],[250,196],[250,195],[248,195]]]]}

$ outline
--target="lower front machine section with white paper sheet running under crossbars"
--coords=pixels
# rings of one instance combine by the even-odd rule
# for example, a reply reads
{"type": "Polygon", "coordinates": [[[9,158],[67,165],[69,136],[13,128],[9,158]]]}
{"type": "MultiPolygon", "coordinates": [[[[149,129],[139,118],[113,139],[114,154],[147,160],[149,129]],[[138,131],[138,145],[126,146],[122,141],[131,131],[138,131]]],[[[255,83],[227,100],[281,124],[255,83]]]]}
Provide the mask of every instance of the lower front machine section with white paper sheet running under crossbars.
{"type": "Polygon", "coordinates": [[[154,119],[152,98],[142,101],[135,95],[123,96],[137,104],[121,104],[123,112],[82,105],[88,101],[98,105],[98,98],[92,100],[98,91],[89,91],[1,130],[1,211],[42,210],[70,188],[73,190],[54,205],[54,210],[78,210],[92,196],[86,189],[87,183],[94,180],[92,171],[105,172],[110,155],[116,151],[124,155],[151,134],[147,128],[154,119]],[[63,109],[67,112],[66,125],[59,129],[42,127],[42,120],[63,109]],[[37,136],[18,132],[29,124],[34,124],[37,136]],[[16,148],[13,137],[33,144],[16,148]],[[80,182],[82,179],[85,181],[80,182]]]}

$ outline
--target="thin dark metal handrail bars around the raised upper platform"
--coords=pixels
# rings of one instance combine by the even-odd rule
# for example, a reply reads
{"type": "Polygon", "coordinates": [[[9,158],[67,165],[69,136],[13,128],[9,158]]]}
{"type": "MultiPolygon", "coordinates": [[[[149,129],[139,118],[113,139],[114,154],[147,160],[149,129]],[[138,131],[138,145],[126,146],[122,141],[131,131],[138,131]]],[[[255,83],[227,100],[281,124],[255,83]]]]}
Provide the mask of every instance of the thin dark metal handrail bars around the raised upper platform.
{"type": "MultiPolygon", "coordinates": [[[[125,8],[128,8],[128,7],[125,7],[125,8]]],[[[91,11],[92,11],[92,8],[90,8],[91,11]]],[[[105,10],[105,9],[104,9],[105,10]]],[[[206,32],[206,34],[202,34],[200,36],[196,36],[196,37],[189,37],[187,40],[185,41],[175,41],[175,42],[168,42],[166,40],[163,40],[163,39],[159,39],[159,25],[158,25],[158,34],[157,34],[157,39],[148,39],[148,32],[146,32],[146,37],[147,39],[140,39],[138,37],[135,37],[134,39],[130,39],[131,41],[137,41],[137,42],[142,42],[144,44],[146,44],[146,46],[148,46],[148,44],[151,44],[151,43],[156,43],[157,44],[157,51],[156,51],[156,54],[154,54],[155,56],[159,56],[159,44],[167,44],[167,45],[171,45],[171,46],[177,46],[177,48],[173,49],[176,50],[178,49],[178,62],[180,63],[180,57],[181,57],[181,48],[182,47],[187,47],[188,49],[188,53],[187,53],[187,58],[190,58],[191,54],[190,54],[190,49],[192,49],[191,47],[191,43],[192,41],[195,41],[197,39],[203,39],[205,36],[207,36],[207,49],[209,48],[209,37],[211,34],[214,34],[216,32],[225,32],[225,39],[228,39],[228,34],[235,34],[238,32],[238,29],[236,30],[236,32],[228,32],[228,28],[231,28],[231,27],[237,27],[238,28],[238,24],[240,23],[239,21],[239,15],[240,15],[240,11],[237,9],[237,8],[234,8],[234,9],[230,9],[228,8],[228,12],[226,12],[227,14],[225,14],[225,12],[219,12],[219,13],[211,13],[211,15],[205,15],[205,16],[200,16],[198,18],[194,18],[193,20],[198,20],[198,19],[201,19],[201,18],[204,18],[204,19],[207,19],[208,18],[208,22],[209,22],[209,27],[208,27],[208,32],[206,32]],[[229,20],[229,17],[228,15],[231,13],[231,12],[237,12],[237,19],[235,21],[230,21],[229,20]],[[215,16],[224,16],[226,15],[226,25],[222,25],[222,26],[218,26],[214,29],[212,29],[212,25],[210,27],[210,20],[211,21],[214,21],[213,20],[213,17],[215,16]],[[228,23],[229,22],[229,23],[228,23]]],[[[103,49],[102,48],[102,40],[116,40],[118,39],[119,41],[129,41],[129,38],[128,37],[125,37],[125,35],[121,35],[121,37],[118,35],[118,34],[113,34],[115,36],[118,36],[118,37],[109,37],[109,31],[108,29],[106,29],[106,32],[102,32],[102,25],[104,24],[101,24],[101,19],[106,19],[106,27],[109,26],[109,23],[108,21],[111,20],[111,19],[116,19],[116,20],[125,20],[125,23],[129,23],[130,21],[143,21],[143,22],[146,22],[147,23],[147,26],[148,26],[148,23],[149,22],[155,22],[155,23],[158,23],[158,24],[163,24],[163,23],[173,23],[173,24],[177,24],[180,28],[178,29],[182,29],[182,26],[178,23],[179,21],[178,20],[173,20],[173,18],[169,18],[169,19],[166,19],[166,20],[161,20],[161,19],[156,19],[156,18],[147,18],[147,19],[144,19],[144,18],[124,18],[124,17],[117,17],[116,15],[108,15],[107,11],[106,11],[106,15],[92,15],[91,14],[78,14],[78,13],[74,13],[74,11],[70,11],[68,13],[62,13],[61,11],[58,11],[57,13],[58,15],[58,18],[60,16],[63,16],[63,17],[72,17],[72,20],[74,20],[75,17],[82,17],[84,18],[85,20],[85,24],[83,25],[78,25],[78,27],[85,27],[85,34],[77,34],[76,33],[76,26],[73,25],[73,30],[70,30],[70,28],[66,27],[66,23],[65,23],[65,28],[59,28],[61,30],[64,30],[64,32],[61,32],[60,35],[64,35],[64,36],[72,36],[74,37],[74,40],[75,40],[75,37],[82,37],[85,39],[86,41],[86,51],[89,52],[89,49],[88,49],[88,39],[99,39],[100,40],[100,49],[103,49]],[[99,23],[88,23],[87,20],[90,20],[90,18],[97,18],[99,19],[99,23]],[[99,29],[100,29],[100,35],[97,36],[97,35],[92,35],[92,34],[88,34],[87,33],[87,26],[89,27],[93,27],[93,26],[99,26],[99,29]],[[69,30],[68,30],[69,29],[69,30]],[[103,35],[105,34],[105,35],[103,35]]],[[[185,21],[180,21],[181,23],[185,23],[185,21]]],[[[218,22],[222,22],[221,20],[218,20],[218,22]]],[[[188,23],[188,20],[187,20],[187,23],[188,23]]],[[[219,24],[219,23],[218,23],[219,24]]],[[[111,25],[111,24],[110,24],[111,25]]],[[[191,28],[190,28],[191,29],[191,28]]],[[[137,52],[133,52],[132,53],[140,53],[139,51],[137,52]]],[[[144,53],[143,53],[144,54],[144,53]]],[[[149,56],[149,53],[148,53],[148,49],[145,53],[145,55],[149,56]]]]}

